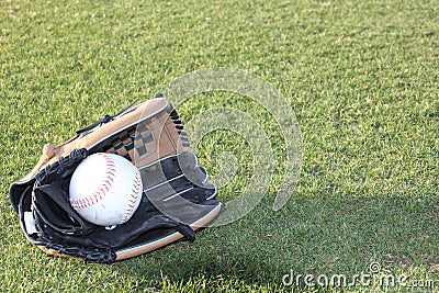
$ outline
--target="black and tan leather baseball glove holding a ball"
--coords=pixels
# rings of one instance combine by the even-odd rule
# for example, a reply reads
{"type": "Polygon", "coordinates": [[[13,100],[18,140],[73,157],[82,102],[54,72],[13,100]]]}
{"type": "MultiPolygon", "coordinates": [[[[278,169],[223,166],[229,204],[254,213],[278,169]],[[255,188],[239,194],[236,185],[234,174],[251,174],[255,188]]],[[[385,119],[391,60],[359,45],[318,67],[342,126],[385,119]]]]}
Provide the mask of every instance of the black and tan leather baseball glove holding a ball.
{"type": "Polygon", "coordinates": [[[45,145],[35,168],[10,188],[24,235],[48,255],[98,262],[194,240],[195,230],[213,221],[222,204],[189,147],[179,115],[160,94],[105,115],[63,144],[45,145]],[[94,153],[123,156],[142,176],[137,211],[113,229],[87,222],[69,203],[70,178],[94,153]]]}

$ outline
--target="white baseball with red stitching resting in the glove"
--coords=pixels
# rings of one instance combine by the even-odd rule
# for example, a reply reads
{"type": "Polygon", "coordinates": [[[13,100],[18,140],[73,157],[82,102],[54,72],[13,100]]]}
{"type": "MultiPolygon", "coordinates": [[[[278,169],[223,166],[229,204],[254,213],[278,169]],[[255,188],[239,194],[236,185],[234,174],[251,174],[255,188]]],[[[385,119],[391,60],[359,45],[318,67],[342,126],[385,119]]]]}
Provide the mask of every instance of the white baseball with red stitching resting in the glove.
{"type": "Polygon", "coordinates": [[[69,201],[85,219],[100,226],[127,222],[142,200],[137,168],[125,158],[97,153],[81,161],[69,187],[69,201]]]}

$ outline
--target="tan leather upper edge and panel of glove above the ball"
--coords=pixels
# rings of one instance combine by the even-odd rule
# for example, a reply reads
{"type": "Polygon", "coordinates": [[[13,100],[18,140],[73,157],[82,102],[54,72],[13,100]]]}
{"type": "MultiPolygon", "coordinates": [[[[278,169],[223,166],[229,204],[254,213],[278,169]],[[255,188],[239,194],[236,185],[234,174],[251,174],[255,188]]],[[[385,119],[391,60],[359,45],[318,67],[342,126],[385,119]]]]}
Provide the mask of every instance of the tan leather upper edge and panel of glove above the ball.
{"type": "MultiPolygon", "coordinates": [[[[189,142],[185,142],[184,133],[183,140],[180,139],[182,127],[177,128],[178,125],[181,125],[181,122],[170,116],[172,110],[172,105],[165,98],[151,99],[130,109],[113,121],[97,126],[87,134],[72,137],[59,145],[46,144],[34,169],[20,181],[33,178],[44,167],[68,156],[74,149],[91,149],[104,140],[112,140],[119,132],[126,128],[134,129],[133,136],[139,134],[149,137],[145,142],[142,139],[134,140],[134,149],[125,150],[130,154],[133,164],[138,167],[149,165],[159,158],[189,150],[189,142]],[[146,153],[137,151],[143,149],[143,146],[146,148],[146,153]]],[[[122,154],[123,149],[104,149],[102,151],[124,155],[122,154]]]]}

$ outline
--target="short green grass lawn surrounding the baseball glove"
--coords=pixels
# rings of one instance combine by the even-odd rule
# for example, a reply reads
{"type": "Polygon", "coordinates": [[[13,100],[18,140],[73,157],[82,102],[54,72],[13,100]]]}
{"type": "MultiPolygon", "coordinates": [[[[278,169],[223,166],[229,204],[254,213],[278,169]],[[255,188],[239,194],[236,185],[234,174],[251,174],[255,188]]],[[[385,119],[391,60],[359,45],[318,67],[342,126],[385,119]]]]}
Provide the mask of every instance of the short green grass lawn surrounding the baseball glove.
{"type": "MultiPolygon", "coordinates": [[[[0,291],[439,292],[439,3],[291,2],[1,1],[0,291]],[[227,106],[269,133],[278,164],[249,215],[114,264],[52,258],[26,241],[8,190],[45,143],[215,67],[262,77],[296,115],[303,168],[284,209],[271,210],[284,159],[273,117],[247,97],[203,93],[181,105],[183,122],[227,106]],[[282,284],[291,271],[351,278],[371,263],[424,286],[282,284]]],[[[252,158],[230,132],[196,148],[213,174],[223,151],[238,162],[219,189],[228,201],[252,158]]]]}

